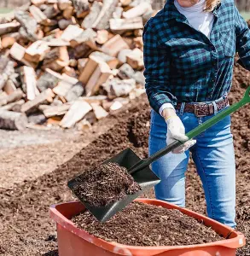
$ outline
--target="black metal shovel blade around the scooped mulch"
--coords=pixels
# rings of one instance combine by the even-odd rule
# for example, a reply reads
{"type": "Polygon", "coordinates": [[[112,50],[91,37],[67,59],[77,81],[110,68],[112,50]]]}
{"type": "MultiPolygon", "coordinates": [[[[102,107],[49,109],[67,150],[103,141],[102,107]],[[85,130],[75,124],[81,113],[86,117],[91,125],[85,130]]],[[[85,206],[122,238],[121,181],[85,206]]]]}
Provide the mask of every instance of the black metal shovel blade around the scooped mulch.
{"type": "MultiPolygon", "coordinates": [[[[110,162],[117,163],[119,166],[124,166],[128,170],[137,164],[141,160],[139,156],[131,149],[126,148],[124,151],[113,156],[113,158],[106,160],[103,164],[108,164],[110,162]]],[[[157,183],[160,183],[160,178],[157,177],[151,168],[148,166],[142,169],[140,172],[135,172],[132,177],[137,183],[140,184],[142,190],[134,195],[126,195],[126,197],[120,201],[116,201],[106,207],[93,207],[90,204],[83,201],[78,195],[78,199],[84,204],[84,206],[94,215],[98,221],[106,222],[108,219],[112,218],[114,214],[123,210],[127,205],[134,201],[138,196],[142,195],[145,190],[154,187],[157,183]]],[[[77,177],[73,178],[67,183],[69,189],[73,190],[74,186],[78,184],[77,177]]]]}

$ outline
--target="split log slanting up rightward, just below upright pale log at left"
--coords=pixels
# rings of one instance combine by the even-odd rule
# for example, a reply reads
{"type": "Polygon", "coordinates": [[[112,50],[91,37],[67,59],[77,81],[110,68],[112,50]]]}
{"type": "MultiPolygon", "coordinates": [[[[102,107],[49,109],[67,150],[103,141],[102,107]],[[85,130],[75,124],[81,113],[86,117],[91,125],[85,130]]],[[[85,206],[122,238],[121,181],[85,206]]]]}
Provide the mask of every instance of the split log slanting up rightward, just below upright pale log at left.
{"type": "Polygon", "coordinates": [[[53,97],[55,97],[55,94],[51,89],[44,90],[42,93],[40,93],[36,98],[30,102],[26,102],[21,106],[20,111],[22,113],[32,113],[38,109],[38,106],[40,104],[53,102],[53,97]]]}

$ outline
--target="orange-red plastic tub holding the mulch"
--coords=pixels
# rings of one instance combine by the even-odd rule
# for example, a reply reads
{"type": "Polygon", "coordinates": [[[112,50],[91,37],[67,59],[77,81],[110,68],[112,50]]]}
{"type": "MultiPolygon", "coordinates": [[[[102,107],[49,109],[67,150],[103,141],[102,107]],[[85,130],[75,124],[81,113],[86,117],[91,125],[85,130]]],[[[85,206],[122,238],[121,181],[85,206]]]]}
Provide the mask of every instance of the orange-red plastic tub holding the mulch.
{"type": "MultiPolygon", "coordinates": [[[[73,201],[68,203],[62,203],[58,205],[53,205],[49,208],[50,218],[54,219],[57,224],[57,234],[58,234],[58,247],[59,255],[82,255],[79,254],[79,249],[84,248],[84,253],[88,250],[90,244],[95,245],[103,250],[103,255],[137,255],[137,256],[148,256],[148,255],[225,255],[231,256],[235,255],[236,248],[243,247],[246,244],[245,236],[240,232],[231,229],[229,226],[220,224],[212,218],[207,218],[204,215],[190,211],[186,208],[177,207],[173,204],[167,203],[166,201],[159,201],[154,199],[137,199],[146,204],[151,204],[154,206],[165,207],[168,209],[177,209],[183,214],[189,215],[192,218],[202,220],[206,226],[211,226],[219,235],[227,238],[222,241],[215,241],[205,244],[196,244],[190,246],[158,246],[158,247],[138,247],[138,246],[127,246],[124,244],[119,244],[117,242],[104,241],[96,236],[90,235],[84,230],[78,229],[73,222],[70,220],[73,216],[79,212],[85,210],[84,205],[80,201],[73,201]],[[62,234],[63,233],[63,234],[62,234]],[[68,236],[68,237],[67,237],[68,236]],[[73,248],[75,239],[81,239],[84,243],[84,247],[73,248]],[[62,241],[63,240],[63,241],[62,241]],[[69,244],[67,244],[69,243],[69,244]],[[89,246],[88,246],[89,245],[89,246]],[[65,252],[65,249],[71,247],[69,251],[65,252]],[[197,253],[195,253],[197,251],[197,253]],[[106,253],[105,253],[106,252],[106,253]],[[108,253],[110,252],[110,253],[108,253]],[[171,253],[168,254],[167,252],[171,253]],[[193,254],[193,253],[194,254],[193,254]],[[200,253],[199,253],[200,252],[200,253]],[[201,253],[203,252],[203,253],[201,253]],[[220,253],[219,253],[220,252],[220,253]],[[222,254],[223,253],[223,254],[222,254]]],[[[78,242],[81,242],[78,241],[78,242]]],[[[75,246],[78,244],[75,243],[75,246]]],[[[90,251],[92,246],[90,246],[90,251]]],[[[92,247],[93,248],[93,247],[92,247]]],[[[96,255],[97,254],[84,254],[84,255],[96,255]]],[[[98,256],[101,255],[98,253],[98,256]]]]}

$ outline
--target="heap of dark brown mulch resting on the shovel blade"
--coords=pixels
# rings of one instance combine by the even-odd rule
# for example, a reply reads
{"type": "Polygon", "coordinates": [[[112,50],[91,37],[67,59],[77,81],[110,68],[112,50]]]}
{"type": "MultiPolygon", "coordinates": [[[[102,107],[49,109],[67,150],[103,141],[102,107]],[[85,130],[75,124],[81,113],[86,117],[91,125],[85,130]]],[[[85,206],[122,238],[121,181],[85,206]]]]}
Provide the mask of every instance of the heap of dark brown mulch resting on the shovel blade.
{"type": "Polygon", "coordinates": [[[106,207],[141,190],[128,170],[116,163],[90,169],[78,176],[76,182],[73,193],[94,207],[106,207]]]}

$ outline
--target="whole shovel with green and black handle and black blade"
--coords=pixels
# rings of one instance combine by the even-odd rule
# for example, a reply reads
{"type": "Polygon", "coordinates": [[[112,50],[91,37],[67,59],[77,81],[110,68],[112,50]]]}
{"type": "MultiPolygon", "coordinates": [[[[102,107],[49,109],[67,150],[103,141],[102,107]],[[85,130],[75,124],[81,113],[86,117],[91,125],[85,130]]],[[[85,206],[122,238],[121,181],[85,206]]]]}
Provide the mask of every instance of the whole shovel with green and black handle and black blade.
{"type": "MultiPolygon", "coordinates": [[[[236,102],[234,105],[229,108],[225,108],[220,113],[213,116],[211,119],[206,120],[202,125],[199,125],[194,130],[189,131],[186,134],[189,137],[189,140],[200,135],[203,131],[206,131],[212,125],[218,123],[218,121],[224,119],[226,116],[234,113],[239,108],[243,107],[245,104],[250,102],[250,86],[247,88],[245,96],[241,99],[240,102],[236,102]]],[[[150,169],[150,165],[158,160],[161,156],[172,152],[173,149],[178,148],[183,145],[185,142],[176,141],[166,148],[161,149],[155,154],[148,157],[148,159],[142,160],[136,153],[131,150],[131,148],[126,148],[124,151],[113,156],[113,158],[106,160],[103,164],[109,162],[117,163],[119,166],[124,166],[131,173],[132,177],[137,183],[140,184],[142,190],[137,192],[134,195],[126,195],[126,197],[120,201],[113,202],[106,207],[93,207],[89,203],[78,198],[84,206],[93,214],[98,221],[106,222],[108,219],[112,218],[114,214],[123,210],[131,201],[134,201],[138,196],[142,195],[145,190],[154,187],[157,183],[160,183],[160,178],[157,177],[154,172],[150,169]]],[[[68,187],[73,190],[73,187],[78,184],[77,177],[68,182],[68,187]]],[[[76,195],[78,197],[78,195],[76,195]]]]}

